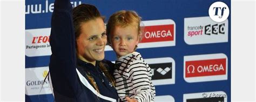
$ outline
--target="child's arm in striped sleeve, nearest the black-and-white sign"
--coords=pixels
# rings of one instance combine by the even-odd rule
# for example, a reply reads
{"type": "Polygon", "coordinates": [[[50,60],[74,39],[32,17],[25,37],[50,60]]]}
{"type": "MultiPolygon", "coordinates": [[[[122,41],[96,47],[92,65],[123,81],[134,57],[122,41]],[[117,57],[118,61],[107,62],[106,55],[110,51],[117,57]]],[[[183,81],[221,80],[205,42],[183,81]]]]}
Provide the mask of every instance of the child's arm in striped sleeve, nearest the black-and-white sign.
{"type": "Polygon", "coordinates": [[[154,90],[151,89],[149,70],[147,70],[146,64],[141,60],[133,61],[130,63],[129,75],[135,92],[130,98],[136,98],[138,101],[152,101],[154,90]]]}

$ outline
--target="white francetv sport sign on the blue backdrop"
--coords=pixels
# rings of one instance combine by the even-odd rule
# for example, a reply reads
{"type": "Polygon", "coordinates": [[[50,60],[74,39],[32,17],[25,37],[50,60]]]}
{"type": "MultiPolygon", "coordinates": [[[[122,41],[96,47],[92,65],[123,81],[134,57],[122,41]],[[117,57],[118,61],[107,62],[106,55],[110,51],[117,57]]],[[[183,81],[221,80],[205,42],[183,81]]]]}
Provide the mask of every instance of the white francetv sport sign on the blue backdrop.
{"type": "Polygon", "coordinates": [[[188,45],[228,42],[228,20],[217,23],[210,17],[184,18],[184,40],[188,45]]]}

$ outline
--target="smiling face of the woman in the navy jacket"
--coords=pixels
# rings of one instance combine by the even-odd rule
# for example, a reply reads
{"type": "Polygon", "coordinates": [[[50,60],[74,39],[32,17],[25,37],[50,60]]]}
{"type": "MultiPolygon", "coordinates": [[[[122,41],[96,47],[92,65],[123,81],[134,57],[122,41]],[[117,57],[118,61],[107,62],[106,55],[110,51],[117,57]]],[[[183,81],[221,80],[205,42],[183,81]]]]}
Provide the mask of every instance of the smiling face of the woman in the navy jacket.
{"type": "Polygon", "coordinates": [[[95,65],[104,59],[106,30],[102,18],[82,23],[80,36],[77,38],[78,58],[95,65]]]}

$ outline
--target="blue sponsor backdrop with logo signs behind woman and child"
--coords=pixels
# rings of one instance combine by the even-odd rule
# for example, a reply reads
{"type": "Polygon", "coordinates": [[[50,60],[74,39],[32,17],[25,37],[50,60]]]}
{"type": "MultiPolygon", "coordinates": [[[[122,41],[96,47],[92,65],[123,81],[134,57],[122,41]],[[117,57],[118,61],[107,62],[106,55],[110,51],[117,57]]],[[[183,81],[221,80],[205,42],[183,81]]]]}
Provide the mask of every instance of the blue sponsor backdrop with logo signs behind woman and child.
{"type": "MultiPolygon", "coordinates": [[[[219,23],[213,21],[208,10],[214,2],[217,1],[71,1],[73,6],[96,5],[106,17],[105,22],[118,10],[138,12],[145,31],[137,52],[154,71],[156,101],[231,101],[231,17],[219,23]]],[[[221,2],[231,8],[231,1],[221,2]]],[[[48,80],[43,84],[49,71],[53,5],[53,0],[25,1],[28,102],[53,101],[48,80]]],[[[105,50],[105,59],[116,60],[111,47],[105,50]]]]}

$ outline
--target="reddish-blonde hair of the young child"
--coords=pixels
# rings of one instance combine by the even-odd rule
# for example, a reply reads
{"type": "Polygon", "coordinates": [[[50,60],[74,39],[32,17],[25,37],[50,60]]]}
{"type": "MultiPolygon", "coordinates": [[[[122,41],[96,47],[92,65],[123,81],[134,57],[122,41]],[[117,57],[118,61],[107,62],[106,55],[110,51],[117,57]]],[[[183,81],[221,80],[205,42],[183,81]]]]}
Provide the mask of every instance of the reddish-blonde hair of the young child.
{"type": "MultiPolygon", "coordinates": [[[[113,13],[110,16],[109,21],[107,22],[106,34],[107,34],[107,42],[111,46],[111,35],[116,30],[116,27],[135,27],[138,31],[139,40],[142,39],[142,28],[140,27],[141,17],[135,11],[126,11],[121,10],[113,13]]],[[[134,48],[134,50],[138,46],[134,48]]]]}

